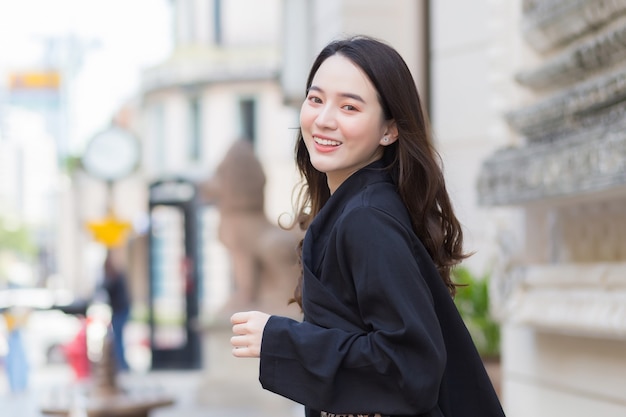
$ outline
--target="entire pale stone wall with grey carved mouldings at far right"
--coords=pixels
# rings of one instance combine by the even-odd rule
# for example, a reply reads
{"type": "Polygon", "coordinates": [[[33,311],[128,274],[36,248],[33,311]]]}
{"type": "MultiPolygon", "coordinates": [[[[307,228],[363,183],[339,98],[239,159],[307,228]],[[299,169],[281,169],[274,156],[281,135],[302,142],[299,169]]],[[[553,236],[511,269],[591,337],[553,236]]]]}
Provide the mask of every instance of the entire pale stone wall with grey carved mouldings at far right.
{"type": "MultiPolygon", "coordinates": [[[[532,66],[482,165],[484,207],[522,212],[494,274],[509,417],[626,415],[626,1],[525,0],[532,66]]],[[[514,228],[513,228],[514,229],[514,228]]]]}

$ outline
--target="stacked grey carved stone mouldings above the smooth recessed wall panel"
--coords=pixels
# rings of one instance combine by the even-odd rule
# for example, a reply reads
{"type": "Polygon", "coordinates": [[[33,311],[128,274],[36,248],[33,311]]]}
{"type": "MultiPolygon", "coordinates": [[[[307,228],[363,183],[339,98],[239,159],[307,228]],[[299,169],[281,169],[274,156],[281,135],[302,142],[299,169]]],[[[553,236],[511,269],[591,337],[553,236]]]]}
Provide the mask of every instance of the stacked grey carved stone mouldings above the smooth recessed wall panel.
{"type": "Polygon", "coordinates": [[[484,161],[479,202],[521,204],[626,186],[626,0],[523,5],[526,36],[541,34],[563,51],[518,74],[544,97],[505,115],[526,143],[484,161]]]}

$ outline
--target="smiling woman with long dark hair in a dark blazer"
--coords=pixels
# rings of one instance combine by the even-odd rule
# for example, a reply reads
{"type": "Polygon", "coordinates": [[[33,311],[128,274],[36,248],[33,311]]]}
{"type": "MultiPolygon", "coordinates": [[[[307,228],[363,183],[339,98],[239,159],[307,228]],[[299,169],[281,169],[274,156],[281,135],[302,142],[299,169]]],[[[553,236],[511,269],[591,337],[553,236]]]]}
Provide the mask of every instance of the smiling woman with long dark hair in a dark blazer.
{"type": "Polygon", "coordinates": [[[404,60],[367,37],[326,46],[296,145],[304,321],[232,316],[236,357],[307,416],[503,416],[452,300],[466,255],[404,60]]]}

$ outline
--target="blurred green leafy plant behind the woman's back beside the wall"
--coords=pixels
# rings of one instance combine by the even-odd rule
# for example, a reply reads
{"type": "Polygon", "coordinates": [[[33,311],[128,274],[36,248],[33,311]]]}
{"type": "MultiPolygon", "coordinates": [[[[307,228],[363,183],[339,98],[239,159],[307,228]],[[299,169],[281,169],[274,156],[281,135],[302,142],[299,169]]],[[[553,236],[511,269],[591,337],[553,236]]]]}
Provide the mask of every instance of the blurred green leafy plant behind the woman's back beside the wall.
{"type": "Polygon", "coordinates": [[[452,276],[457,284],[454,303],[467,326],[478,352],[484,358],[500,356],[500,325],[489,310],[489,278],[477,278],[465,267],[456,267],[452,276]]]}

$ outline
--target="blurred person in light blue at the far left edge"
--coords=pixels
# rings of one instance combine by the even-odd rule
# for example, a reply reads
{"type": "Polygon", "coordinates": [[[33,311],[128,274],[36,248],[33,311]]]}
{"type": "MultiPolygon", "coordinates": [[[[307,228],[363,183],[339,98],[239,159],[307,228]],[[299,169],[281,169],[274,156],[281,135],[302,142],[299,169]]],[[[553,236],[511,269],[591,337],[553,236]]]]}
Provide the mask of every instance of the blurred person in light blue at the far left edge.
{"type": "Polygon", "coordinates": [[[29,364],[22,328],[28,319],[28,310],[20,307],[10,307],[2,311],[7,328],[8,353],[6,357],[6,372],[11,392],[17,393],[28,388],[29,364]]]}

